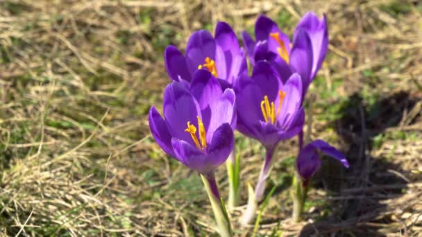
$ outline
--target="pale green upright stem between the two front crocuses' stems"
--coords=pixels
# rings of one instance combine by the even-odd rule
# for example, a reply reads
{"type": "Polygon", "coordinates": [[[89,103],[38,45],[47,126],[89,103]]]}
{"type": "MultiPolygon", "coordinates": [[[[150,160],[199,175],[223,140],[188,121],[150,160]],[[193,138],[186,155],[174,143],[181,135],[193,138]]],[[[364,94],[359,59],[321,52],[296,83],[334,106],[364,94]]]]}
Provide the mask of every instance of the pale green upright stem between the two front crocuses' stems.
{"type": "Polygon", "coordinates": [[[239,204],[239,156],[236,151],[230,153],[226,161],[228,173],[228,207],[233,209],[239,204]]]}

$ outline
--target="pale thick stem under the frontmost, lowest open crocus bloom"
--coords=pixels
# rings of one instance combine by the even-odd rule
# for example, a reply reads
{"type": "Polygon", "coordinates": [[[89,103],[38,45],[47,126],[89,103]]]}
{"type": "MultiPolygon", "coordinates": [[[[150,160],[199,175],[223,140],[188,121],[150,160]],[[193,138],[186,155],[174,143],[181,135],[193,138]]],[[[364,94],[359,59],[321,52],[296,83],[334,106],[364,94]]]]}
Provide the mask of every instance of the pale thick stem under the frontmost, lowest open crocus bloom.
{"type": "Polygon", "coordinates": [[[215,181],[214,173],[208,175],[201,175],[205,191],[207,191],[208,198],[210,198],[212,211],[214,211],[214,218],[219,227],[219,234],[223,237],[233,236],[230,220],[226,213],[223,200],[220,198],[217,182],[215,181]]]}

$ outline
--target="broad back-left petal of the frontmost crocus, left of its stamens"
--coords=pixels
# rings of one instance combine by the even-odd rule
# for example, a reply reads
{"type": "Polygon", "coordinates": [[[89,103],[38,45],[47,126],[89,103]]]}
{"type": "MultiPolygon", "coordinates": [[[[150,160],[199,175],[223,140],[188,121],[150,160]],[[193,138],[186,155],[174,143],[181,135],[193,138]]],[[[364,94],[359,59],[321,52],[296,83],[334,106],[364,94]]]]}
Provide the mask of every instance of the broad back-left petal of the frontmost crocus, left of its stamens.
{"type": "Polygon", "coordinates": [[[171,137],[188,141],[194,145],[190,134],[185,132],[187,122],[198,128],[196,116],[201,116],[201,110],[194,96],[181,83],[172,82],[164,90],[162,107],[171,137]]]}

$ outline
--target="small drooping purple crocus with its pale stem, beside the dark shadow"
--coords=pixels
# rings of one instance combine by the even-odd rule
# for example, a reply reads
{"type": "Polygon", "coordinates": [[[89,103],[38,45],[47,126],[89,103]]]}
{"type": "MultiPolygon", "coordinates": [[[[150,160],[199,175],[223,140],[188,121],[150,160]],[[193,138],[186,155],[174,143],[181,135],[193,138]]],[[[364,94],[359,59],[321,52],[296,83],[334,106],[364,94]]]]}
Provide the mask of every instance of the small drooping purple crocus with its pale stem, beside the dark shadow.
{"type": "Polygon", "coordinates": [[[295,221],[301,220],[303,205],[307,197],[307,184],[312,175],[321,167],[319,152],[337,159],[346,168],[349,166],[346,157],[339,150],[321,139],[312,141],[301,149],[296,159],[297,173],[294,177],[291,193],[293,200],[292,218],[295,221]]]}

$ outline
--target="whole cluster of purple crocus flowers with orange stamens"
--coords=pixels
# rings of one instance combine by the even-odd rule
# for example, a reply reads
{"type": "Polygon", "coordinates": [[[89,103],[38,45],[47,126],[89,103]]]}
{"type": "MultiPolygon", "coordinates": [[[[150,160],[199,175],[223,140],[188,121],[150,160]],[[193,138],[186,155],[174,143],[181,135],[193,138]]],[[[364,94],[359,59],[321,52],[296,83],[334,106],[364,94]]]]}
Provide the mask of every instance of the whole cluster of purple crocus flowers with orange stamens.
{"type": "MultiPolygon", "coordinates": [[[[292,40],[264,15],[255,23],[255,40],[246,32],[242,38],[246,53],[233,29],[219,22],[214,37],[207,30],[194,32],[185,55],[168,46],[164,63],[173,81],[164,89],[163,116],[155,107],[149,112],[160,148],[203,177],[222,236],[230,236],[231,229],[214,171],[234,154],[234,130],[260,141],[267,152],[254,207],[247,208],[243,220],[250,222],[263,198],[278,143],[303,136],[303,101],[328,51],[326,16],[320,20],[313,12],[304,15],[292,40]],[[251,76],[246,58],[253,67],[251,76]]],[[[298,188],[306,186],[321,166],[319,151],[348,167],[346,157],[325,141],[299,146],[298,188]]]]}

